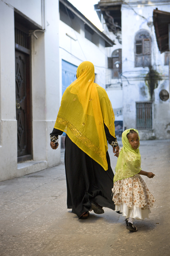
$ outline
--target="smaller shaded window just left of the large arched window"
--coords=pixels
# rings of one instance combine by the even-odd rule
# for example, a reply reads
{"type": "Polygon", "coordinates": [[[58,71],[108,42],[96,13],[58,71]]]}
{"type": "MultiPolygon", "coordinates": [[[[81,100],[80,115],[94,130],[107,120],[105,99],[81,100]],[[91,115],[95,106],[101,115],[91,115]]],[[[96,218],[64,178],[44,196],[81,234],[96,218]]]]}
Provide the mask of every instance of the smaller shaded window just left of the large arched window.
{"type": "Polygon", "coordinates": [[[122,74],[122,49],[112,52],[108,58],[108,68],[112,69],[112,78],[118,78],[122,74]]]}

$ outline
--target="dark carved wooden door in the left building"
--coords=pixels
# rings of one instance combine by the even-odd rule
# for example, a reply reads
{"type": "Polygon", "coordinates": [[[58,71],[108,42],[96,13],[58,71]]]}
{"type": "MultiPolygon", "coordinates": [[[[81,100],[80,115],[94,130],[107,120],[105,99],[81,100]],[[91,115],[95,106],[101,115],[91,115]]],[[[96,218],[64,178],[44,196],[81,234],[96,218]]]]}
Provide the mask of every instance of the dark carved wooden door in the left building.
{"type": "Polygon", "coordinates": [[[18,161],[32,159],[29,56],[15,51],[18,161]]]}

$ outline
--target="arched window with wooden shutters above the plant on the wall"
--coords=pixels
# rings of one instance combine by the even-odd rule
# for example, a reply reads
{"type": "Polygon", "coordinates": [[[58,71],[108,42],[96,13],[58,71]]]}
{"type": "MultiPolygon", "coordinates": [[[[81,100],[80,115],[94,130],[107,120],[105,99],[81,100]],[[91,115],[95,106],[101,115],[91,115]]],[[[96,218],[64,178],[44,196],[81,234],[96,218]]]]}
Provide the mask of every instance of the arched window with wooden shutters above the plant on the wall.
{"type": "Polygon", "coordinates": [[[135,67],[151,65],[151,36],[147,30],[140,30],[135,36],[135,67]]]}

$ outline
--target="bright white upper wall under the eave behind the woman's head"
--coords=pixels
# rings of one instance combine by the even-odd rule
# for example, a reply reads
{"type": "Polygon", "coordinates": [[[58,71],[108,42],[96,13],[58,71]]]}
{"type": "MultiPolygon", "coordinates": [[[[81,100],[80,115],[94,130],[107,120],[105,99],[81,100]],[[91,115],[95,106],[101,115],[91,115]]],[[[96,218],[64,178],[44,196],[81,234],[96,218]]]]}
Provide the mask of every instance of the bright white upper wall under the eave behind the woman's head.
{"type": "Polygon", "coordinates": [[[60,46],[60,99],[62,88],[62,59],[73,65],[79,66],[82,61],[91,61],[96,74],[95,82],[105,88],[105,41],[100,38],[99,46],[96,46],[85,38],[84,23],[80,20],[80,33],[60,20],[59,25],[60,46]],[[70,35],[72,39],[66,34],[70,35]]]}

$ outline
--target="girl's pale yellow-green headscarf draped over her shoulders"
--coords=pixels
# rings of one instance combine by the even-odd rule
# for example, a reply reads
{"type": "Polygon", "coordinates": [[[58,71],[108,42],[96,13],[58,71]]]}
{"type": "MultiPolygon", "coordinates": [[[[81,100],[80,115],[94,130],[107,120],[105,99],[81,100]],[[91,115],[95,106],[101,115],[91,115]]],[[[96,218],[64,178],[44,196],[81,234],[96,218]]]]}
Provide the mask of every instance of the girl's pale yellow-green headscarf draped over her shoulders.
{"type": "Polygon", "coordinates": [[[138,131],[135,129],[128,129],[123,132],[122,134],[123,148],[120,151],[119,157],[117,159],[117,164],[115,167],[116,173],[113,179],[114,182],[117,180],[122,180],[122,179],[132,177],[135,174],[138,174],[141,170],[141,167],[140,167],[141,156],[140,156],[139,148],[137,148],[137,150],[134,150],[127,138],[127,134],[130,132],[130,130],[134,130],[138,134],[138,131]]]}

